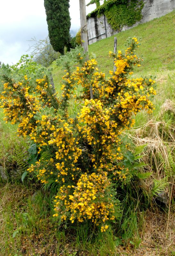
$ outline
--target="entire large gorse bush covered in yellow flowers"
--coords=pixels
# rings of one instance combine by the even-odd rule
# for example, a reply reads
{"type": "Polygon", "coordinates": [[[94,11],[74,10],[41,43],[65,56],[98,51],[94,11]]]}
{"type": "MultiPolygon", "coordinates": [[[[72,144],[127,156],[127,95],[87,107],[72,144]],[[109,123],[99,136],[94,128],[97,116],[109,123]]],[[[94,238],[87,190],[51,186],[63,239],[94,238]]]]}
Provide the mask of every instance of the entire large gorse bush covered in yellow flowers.
{"type": "Polygon", "coordinates": [[[84,62],[81,47],[76,47],[76,60],[64,63],[59,97],[48,76],[36,79],[35,90],[26,75],[20,82],[5,81],[0,97],[4,119],[19,123],[18,136],[29,136],[36,145],[37,160],[28,171],[46,185],[57,184],[53,216],[60,222],[90,220],[103,232],[120,217],[116,188],[137,174],[121,134],[133,126],[133,114],[142,109],[152,113],[156,94],[152,78],[131,77],[134,66],[140,66],[137,47],[133,37],[124,53],[110,52],[116,71],[109,71],[108,78],[95,59],[84,62]],[[80,105],[74,118],[68,112],[72,101],[80,105]]]}

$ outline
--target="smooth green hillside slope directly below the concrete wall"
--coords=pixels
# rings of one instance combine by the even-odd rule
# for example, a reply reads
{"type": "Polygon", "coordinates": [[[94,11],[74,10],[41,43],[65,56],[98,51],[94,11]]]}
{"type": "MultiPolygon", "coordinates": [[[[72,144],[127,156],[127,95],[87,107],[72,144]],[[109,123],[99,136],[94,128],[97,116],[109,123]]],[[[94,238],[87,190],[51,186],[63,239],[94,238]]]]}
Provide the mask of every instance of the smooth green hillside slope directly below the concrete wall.
{"type": "MultiPolygon", "coordinates": [[[[174,26],[175,11],[147,23],[140,24],[135,28],[118,33],[117,49],[124,50],[125,42],[129,36],[141,38],[138,54],[143,56],[144,62],[141,67],[136,68],[137,75],[157,75],[174,68],[174,26]]],[[[89,45],[89,54],[96,55],[100,71],[106,75],[112,69],[113,61],[108,58],[109,51],[114,48],[114,37],[102,39],[97,43],[89,45]]],[[[53,79],[59,89],[61,77],[64,71],[61,67],[52,64],[53,79]]]]}

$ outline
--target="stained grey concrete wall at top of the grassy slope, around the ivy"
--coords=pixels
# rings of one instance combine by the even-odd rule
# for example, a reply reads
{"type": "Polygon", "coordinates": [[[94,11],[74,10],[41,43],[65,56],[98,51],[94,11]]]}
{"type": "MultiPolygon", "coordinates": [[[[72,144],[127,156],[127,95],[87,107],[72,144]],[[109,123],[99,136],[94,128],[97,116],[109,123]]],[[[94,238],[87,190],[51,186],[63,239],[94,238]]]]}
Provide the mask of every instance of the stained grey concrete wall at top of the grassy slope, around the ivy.
{"type": "MultiPolygon", "coordinates": [[[[159,18],[175,9],[175,0],[144,0],[142,9],[143,18],[133,26],[123,26],[122,31],[145,23],[149,20],[159,18]]],[[[117,34],[107,23],[105,15],[97,18],[87,18],[88,44],[95,43],[103,38],[117,34]],[[106,29],[105,29],[106,28],[106,29]]]]}

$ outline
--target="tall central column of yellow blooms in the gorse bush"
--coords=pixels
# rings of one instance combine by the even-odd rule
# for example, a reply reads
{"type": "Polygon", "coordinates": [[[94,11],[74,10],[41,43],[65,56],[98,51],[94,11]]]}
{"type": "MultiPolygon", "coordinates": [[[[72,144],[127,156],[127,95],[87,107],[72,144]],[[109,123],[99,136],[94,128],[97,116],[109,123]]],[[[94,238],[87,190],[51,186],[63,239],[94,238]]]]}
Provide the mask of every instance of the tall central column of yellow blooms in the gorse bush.
{"type": "Polygon", "coordinates": [[[112,108],[104,108],[100,100],[85,100],[84,107],[78,116],[79,123],[85,125],[78,126],[84,140],[87,140],[88,145],[93,147],[93,154],[89,153],[89,157],[94,169],[109,169],[107,161],[111,164],[115,160],[123,159],[120,154],[120,148],[117,152],[114,145],[120,144],[118,140],[119,131],[117,131],[117,123],[111,120],[112,108]]]}

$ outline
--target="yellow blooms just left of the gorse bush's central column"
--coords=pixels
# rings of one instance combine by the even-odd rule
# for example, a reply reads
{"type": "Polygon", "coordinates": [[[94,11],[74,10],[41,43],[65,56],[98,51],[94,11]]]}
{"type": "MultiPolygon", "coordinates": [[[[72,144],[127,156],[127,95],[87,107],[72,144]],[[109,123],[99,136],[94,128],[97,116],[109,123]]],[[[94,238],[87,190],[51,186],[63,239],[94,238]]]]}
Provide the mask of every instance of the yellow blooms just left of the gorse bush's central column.
{"type": "Polygon", "coordinates": [[[38,154],[41,154],[48,147],[52,148],[52,166],[49,167],[48,171],[43,166],[43,171],[41,168],[43,163],[37,162],[35,167],[29,168],[29,171],[37,172],[38,179],[42,180],[43,183],[47,183],[49,177],[52,179],[54,177],[56,182],[60,182],[58,178],[61,177],[63,183],[65,182],[64,176],[68,176],[68,179],[71,176],[71,179],[74,180],[79,173],[76,163],[81,156],[82,149],[78,148],[78,141],[74,138],[72,120],[69,118],[66,122],[61,119],[59,114],[55,117],[42,115],[41,120],[37,120],[36,123],[37,126],[30,133],[30,137],[39,146],[38,154]]]}

